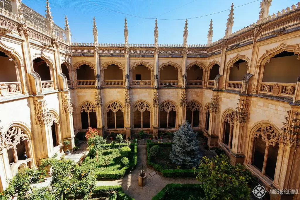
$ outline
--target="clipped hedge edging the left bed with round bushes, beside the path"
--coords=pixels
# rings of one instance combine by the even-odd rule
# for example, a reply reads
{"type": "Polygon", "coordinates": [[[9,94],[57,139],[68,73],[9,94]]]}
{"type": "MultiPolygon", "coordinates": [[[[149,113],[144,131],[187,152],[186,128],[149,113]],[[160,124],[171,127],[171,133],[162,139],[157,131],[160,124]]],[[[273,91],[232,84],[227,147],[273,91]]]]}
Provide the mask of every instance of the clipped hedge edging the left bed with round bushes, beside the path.
{"type": "MultiPolygon", "coordinates": [[[[123,144],[123,143],[121,143],[123,144]]],[[[119,144],[118,144],[119,145],[119,144]]],[[[125,144],[126,146],[126,144],[125,144]]],[[[108,147],[110,148],[109,144],[108,147]]],[[[96,171],[96,179],[97,181],[101,179],[119,179],[122,178],[126,173],[130,172],[137,165],[137,144],[130,145],[131,152],[133,152],[133,156],[131,161],[128,163],[128,166],[123,167],[119,171],[109,171],[109,172],[101,172],[96,171]]]]}

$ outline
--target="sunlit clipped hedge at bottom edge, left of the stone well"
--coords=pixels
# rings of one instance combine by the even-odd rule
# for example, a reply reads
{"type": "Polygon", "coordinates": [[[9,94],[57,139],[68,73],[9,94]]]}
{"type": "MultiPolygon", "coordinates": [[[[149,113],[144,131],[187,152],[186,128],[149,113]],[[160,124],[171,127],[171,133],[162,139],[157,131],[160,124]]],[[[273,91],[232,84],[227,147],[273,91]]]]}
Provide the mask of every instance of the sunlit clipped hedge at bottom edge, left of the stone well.
{"type": "Polygon", "coordinates": [[[122,187],[120,185],[114,185],[114,186],[97,186],[95,190],[93,191],[94,194],[104,194],[104,193],[116,193],[117,194],[117,200],[134,200],[134,198],[131,198],[127,194],[125,194],[122,190],[122,187]]]}

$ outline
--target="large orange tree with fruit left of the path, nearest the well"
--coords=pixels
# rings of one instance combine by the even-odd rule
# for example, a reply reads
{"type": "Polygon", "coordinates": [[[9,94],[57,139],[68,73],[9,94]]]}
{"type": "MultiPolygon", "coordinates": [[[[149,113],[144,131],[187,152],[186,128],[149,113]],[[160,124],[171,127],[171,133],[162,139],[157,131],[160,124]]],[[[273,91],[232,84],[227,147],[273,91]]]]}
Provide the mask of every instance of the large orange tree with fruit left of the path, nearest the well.
{"type": "Polygon", "coordinates": [[[40,168],[52,168],[51,193],[55,199],[73,199],[82,196],[83,200],[91,198],[96,187],[96,178],[93,166],[79,166],[72,160],[61,157],[56,159],[57,154],[50,159],[42,160],[40,168]]]}

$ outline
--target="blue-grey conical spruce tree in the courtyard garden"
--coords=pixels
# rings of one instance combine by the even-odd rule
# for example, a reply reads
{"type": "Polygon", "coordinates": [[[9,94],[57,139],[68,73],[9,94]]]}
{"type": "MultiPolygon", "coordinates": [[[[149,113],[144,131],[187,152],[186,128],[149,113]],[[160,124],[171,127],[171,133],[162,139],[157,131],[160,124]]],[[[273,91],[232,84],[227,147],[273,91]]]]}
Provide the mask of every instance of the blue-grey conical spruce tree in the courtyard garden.
{"type": "Polygon", "coordinates": [[[185,121],[174,133],[174,144],[170,153],[173,163],[187,168],[196,167],[199,164],[201,155],[196,137],[197,133],[194,133],[188,121],[185,121]]]}

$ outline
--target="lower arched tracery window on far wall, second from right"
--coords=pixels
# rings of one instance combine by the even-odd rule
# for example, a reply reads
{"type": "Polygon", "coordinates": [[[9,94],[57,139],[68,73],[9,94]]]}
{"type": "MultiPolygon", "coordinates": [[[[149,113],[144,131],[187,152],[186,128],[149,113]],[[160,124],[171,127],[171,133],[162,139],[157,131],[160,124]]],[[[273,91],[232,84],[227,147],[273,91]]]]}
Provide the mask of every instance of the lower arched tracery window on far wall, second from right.
{"type": "Polygon", "coordinates": [[[176,107],[172,102],[166,101],[165,103],[163,103],[159,110],[159,115],[160,128],[176,127],[176,107]]]}

